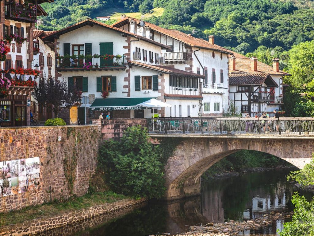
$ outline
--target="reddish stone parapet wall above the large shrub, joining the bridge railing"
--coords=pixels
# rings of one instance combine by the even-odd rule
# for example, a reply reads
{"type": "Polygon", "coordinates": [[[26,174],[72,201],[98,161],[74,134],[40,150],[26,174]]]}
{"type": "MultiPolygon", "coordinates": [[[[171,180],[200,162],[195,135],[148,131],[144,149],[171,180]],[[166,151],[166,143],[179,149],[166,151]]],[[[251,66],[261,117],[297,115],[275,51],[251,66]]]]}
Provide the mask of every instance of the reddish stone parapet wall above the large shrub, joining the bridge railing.
{"type": "MultiPolygon", "coordinates": [[[[130,126],[141,125],[143,127],[147,127],[147,119],[102,120],[101,123],[101,133],[104,140],[108,140],[110,138],[119,140],[122,137],[123,131],[130,126]]],[[[95,121],[93,121],[93,124],[96,124],[95,121]]]]}

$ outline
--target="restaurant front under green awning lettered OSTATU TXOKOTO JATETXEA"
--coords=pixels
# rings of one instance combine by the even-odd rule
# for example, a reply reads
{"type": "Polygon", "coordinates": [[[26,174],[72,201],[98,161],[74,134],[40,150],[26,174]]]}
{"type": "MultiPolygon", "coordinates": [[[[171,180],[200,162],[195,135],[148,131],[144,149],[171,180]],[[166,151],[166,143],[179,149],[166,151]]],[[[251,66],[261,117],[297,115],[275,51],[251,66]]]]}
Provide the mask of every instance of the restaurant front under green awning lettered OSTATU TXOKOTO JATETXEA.
{"type": "Polygon", "coordinates": [[[151,98],[96,98],[89,107],[90,116],[98,118],[104,112],[110,112],[111,119],[148,118],[152,111],[137,104],[148,101],[151,98]]]}

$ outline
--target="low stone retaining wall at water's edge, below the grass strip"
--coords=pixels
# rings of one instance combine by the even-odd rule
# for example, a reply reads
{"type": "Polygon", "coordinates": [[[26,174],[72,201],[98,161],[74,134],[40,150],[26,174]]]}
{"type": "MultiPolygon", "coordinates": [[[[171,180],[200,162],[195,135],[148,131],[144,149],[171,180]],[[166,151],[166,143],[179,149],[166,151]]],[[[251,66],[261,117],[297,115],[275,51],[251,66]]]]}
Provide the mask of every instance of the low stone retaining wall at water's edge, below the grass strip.
{"type": "Polygon", "coordinates": [[[51,229],[57,229],[63,226],[68,227],[67,229],[63,230],[62,233],[58,230],[53,230],[46,233],[45,235],[72,235],[71,233],[74,233],[75,231],[73,229],[75,229],[76,227],[80,227],[80,224],[76,224],[74,227],[70,224],[82,222],[82,227],[92,227],[101,223],[103,218],[94,218],[94,216],[111,215],[112,218],[112,214],[124,212],[127,209],[133,209],[135,207],[141,206],[144,204],[145,201],[146,199],[126,199],[113,203],[107,203],[104,205],[93,206],[74,212],[63,213],[54,217],[39,218],[16,225],[5,226],[0,229],[0,236],[34,235],[38,233],[43,233],[51,229]]]}

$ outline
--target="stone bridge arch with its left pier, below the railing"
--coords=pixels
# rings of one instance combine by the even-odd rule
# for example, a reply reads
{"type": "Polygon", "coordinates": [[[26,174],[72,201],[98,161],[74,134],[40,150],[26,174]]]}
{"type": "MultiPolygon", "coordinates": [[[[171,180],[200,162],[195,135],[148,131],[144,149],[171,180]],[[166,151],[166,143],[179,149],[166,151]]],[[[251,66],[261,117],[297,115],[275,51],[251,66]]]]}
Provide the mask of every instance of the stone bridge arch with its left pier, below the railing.
{"type": "Polygon", "coordinates": [[[303,168],[314,152],[311,139],[185,138],[165,166],[166,199],[200,193],[200,176],[217,161],[239,150],[255,150],[277,156],[303,168]]]}

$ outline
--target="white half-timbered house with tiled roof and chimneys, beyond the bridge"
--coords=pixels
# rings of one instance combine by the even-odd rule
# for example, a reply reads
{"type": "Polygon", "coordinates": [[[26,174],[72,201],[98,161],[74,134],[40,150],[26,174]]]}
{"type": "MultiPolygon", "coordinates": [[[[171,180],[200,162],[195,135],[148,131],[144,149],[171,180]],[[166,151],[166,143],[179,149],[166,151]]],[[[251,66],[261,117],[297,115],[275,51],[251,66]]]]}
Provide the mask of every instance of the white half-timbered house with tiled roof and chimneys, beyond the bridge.
{"type": "Polygon", "coordinates": [[[283,76],[290,74],[279,70],[279,59],[273,59],[273,67],[233,52],[229,58],[230,103],[234,103],[242,114],[261,115],[267,111],[281,110],[283,104],[283,76]]]}

